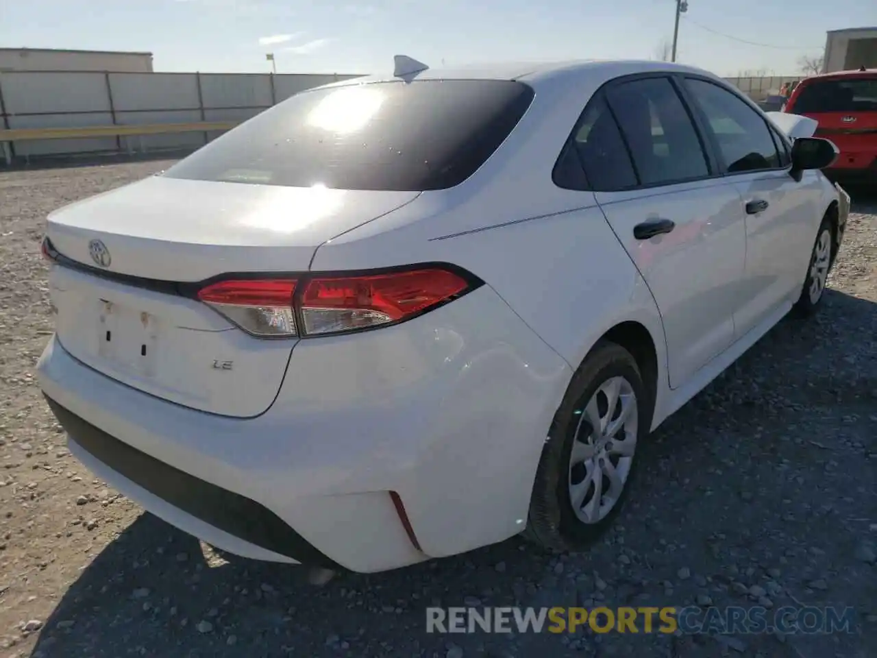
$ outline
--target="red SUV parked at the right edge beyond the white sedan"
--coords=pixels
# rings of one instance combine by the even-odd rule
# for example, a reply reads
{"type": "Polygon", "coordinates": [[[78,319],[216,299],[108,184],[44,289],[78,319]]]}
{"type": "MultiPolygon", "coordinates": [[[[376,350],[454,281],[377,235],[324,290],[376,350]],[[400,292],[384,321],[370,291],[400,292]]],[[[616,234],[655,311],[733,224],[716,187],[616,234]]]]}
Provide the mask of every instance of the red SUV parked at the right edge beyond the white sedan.
{"type": "Polygon", "coordinates": [[[877,70],[806,78],[783,111],[815,118],[815,137],[838,147],[838,160],[824,169],[831,180],[877,185],[877,70]]]}

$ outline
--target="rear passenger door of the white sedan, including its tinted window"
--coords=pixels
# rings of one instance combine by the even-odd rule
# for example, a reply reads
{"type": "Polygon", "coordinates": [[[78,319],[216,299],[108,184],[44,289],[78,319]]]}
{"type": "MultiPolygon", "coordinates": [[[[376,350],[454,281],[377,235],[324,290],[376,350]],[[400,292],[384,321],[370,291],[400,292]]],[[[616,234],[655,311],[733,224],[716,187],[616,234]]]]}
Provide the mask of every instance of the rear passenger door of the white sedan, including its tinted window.
{"type": "Polygon", "coordinates": [[[610,83],[574,141],[597,203],[652,290],[670,385],[681,386],[734,340],[745,266],[738,191],[714,177],[667,75],[610,83]]]}

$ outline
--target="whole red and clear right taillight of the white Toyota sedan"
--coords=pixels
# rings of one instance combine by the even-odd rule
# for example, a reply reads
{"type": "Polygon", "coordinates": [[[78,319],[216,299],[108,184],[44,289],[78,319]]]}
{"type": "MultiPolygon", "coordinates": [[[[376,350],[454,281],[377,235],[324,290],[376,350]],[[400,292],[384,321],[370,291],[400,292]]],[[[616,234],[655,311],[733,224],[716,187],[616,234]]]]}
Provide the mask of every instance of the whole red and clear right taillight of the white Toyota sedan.
{"type": "Polygon", "coordinates": [[[474,290],[481,282],[444,266],[368,275],[303,275],[210,283],[203,301],[253,336],[289,338],[396,325],[474,290]]]}

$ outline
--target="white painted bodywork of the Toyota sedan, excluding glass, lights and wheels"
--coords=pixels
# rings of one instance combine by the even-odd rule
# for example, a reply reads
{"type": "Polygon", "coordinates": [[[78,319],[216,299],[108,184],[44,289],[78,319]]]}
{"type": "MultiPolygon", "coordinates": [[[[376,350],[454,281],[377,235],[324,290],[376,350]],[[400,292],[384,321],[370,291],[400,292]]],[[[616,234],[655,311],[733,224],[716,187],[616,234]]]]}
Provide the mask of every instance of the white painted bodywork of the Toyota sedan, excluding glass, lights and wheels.
{"type": "MultiPolygon", "coordinates": [[[[54,265],[57,335],[39,361],[42,389],[120,443],[262,505],[347,569],[393,569],[515,535],[555,411],[595,343],[624,323],[645,328],[659,426],[788,312],[838,197],[814,172],[800,183],[777,172],[596,194],[554,185],[588,99],[647,71],[706,75],[665,62],[412,74],[518,78],[536,90],[508,139],[448,190],[159,177],[53,213],[47,233],[61,254],[88,265],[89,241],[103,240],[106,269],[130,276],[194,283],[446,262],[484,285],[399,325],[258,340],[194,299],[54,265]],[[747,216],[755,197],[768,211],[747,216]],[[632,240],[654,216],[677,226],[632,240]],[[124,354],[101,344],[102,299],[130,311],[118,330],[124,354]],[[153,340],[139,313],[160,325],[146,365],[131,355],[153,340]],[[211,367],[225,360],[230,372],[211,367]]],[[[777,125],[799,136],[805,127],[777,125]]],[[[168,504],[90,457],[75,433],[70,442],[98,476],[175,526],[232,553],[296,561],[168,504]]]]}

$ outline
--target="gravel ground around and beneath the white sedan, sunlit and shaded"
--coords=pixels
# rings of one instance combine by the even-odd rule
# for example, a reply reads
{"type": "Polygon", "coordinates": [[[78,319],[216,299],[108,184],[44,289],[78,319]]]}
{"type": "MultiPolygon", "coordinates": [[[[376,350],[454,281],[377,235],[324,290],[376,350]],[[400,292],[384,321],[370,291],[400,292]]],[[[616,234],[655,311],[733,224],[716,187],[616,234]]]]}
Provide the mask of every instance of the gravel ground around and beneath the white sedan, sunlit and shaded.
{"type": "Polygon", "coordinates": [[[588,554],[510,540],[317,587],[226,561],[82,468],[39,395],[48,211],[160,161],[0,173],[0,656],[877,655],[877,203],[859,199],[824,313],[786,320],[643,448],[588,554]],[[425,633],[439,605],[852,606],[803,637],[425,633]]]}

